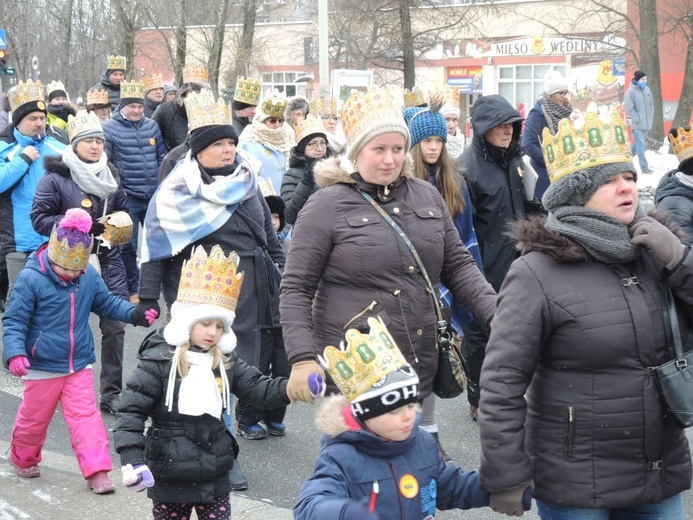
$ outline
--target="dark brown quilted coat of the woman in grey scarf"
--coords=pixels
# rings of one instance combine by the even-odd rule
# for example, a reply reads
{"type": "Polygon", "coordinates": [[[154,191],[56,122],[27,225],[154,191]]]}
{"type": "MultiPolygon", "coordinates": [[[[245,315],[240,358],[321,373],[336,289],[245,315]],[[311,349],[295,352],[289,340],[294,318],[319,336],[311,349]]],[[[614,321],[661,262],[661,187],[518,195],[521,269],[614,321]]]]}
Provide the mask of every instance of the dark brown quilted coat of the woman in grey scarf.
{"type": "MultiPolygon", "coordinates": [[[[482,485],[497,492],[533,478],[535,498],[579,508],[653,504],[688,489],[688,442],[651,368],[670,358],[664,268],[648,251],[626,264],[595,261],[544,218],[515,231],[523,256],[503,283],[481,372],[482,485]]],[[[670,285],[687,329],[690,251],[670,285]]]]}

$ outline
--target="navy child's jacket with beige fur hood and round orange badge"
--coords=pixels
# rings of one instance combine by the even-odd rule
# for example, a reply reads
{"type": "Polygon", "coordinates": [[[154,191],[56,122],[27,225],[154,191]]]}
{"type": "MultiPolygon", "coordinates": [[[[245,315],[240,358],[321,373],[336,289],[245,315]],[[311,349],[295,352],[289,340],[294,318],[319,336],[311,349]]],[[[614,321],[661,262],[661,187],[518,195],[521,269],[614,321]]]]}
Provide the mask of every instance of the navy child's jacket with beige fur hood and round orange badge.
{"type": "MultiPolygon", "coordinates": [[[[391,442],[366,429],[351,429],[343,396],[325,399],[316,416],[323,435],[313,475],[294,508],[295,520],[342,520],[349,506],[365,503],[378,482],[375,513],[388,520],[433,518],[436,508],[489,505],[479,474],[444,462],[431,434],[417,419],[409,439],[391,442]]],[[[360,423],[358,423],[360,425],[360,423]]]]}

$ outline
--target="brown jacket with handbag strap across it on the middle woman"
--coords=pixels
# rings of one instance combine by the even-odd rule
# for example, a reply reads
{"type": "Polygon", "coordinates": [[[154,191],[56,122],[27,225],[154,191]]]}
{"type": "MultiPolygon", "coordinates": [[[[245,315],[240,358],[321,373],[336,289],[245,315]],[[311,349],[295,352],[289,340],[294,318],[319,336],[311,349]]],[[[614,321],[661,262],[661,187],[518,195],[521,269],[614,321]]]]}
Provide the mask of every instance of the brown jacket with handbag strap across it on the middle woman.
{"type": "Polygon", "coordinates": [[[409,236],[433,285],[442,281],[484,323],[493,317],[496,294],[460,242],[438,191],[412,177],[410,160],[387,194],[383,186],[355,181],[343,165],[339,159],[316,165],[321,189],[294,227],[280,300],[287,356],[291,363],[316,359],[326,346],[339,345],[347,327],[379,315],[426,396],[438,365],[432,298],[407,246],[354,188],[374,197],[409,236]]]}

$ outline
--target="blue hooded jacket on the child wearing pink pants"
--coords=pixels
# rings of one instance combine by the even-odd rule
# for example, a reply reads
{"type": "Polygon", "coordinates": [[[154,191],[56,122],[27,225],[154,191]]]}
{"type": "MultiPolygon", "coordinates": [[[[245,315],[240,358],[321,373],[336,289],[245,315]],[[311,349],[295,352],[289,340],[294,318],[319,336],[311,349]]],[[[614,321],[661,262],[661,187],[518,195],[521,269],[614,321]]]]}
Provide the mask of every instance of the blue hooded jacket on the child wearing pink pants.
{"type": "Polygon", "coordinates": [[[89,313],[130,323],[135,306],[111,294],[91,265],[63,282],[46,249],[32,253],[17,277],[2,318],[3,359],[7,367],[14,356],[26,356],[33,369],[68,374],[96,361],[89,313]]]}

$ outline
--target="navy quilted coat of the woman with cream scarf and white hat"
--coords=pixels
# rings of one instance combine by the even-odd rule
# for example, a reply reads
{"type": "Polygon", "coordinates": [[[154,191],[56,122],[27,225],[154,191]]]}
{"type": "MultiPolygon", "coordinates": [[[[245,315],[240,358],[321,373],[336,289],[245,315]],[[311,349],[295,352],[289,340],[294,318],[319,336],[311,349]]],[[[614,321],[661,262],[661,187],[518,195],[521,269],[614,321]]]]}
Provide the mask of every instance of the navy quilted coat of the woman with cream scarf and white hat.
{"type": "MultiPolygon", "coordinates": [[[[53,226],[58,223],[65,212],[72,208],[81,208],[88,212],[92,219],[104,215],[104,201],[96,195],[83,192],[70,177],[70,169],[61,157],[46,157],[44,162],[46,174],[39,182],[31,206],[31,223],[37,233],[50,236],[53,226]],[[85,207],[84,200],[91,201],[90,207],[85,207]]],[[[111,166],[113,176],[118,181],[118,188],[107,201],[106,214],[115,211],[128,210],[128,200],[125,191],[120,186],[117,171],[111,166]]],[[[129,298],[125,265],[118,247],[104,247],[94,243],[93,252],[98,253],[101,262],[101,276],[106,287],[115,295],[127,300],[129,298]]]]}

